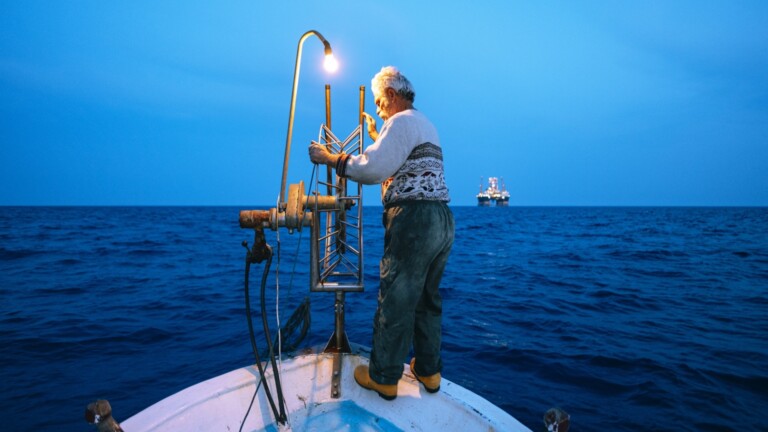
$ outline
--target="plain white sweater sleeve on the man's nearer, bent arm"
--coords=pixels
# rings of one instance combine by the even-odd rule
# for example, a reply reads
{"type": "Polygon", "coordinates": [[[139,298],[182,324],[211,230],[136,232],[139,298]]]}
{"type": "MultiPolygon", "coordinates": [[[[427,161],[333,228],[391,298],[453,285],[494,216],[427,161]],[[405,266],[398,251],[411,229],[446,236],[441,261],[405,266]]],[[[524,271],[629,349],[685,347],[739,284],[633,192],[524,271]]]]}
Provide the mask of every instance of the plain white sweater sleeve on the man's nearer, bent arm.
{"type": "Polygon", "coordinates": [[[363,184],[377,184],[391,177],[415,147],[415,140],[404,116],[393,116],[384,124],[379,138],[361,155],[350,156],[344,175],[363,184]]]}

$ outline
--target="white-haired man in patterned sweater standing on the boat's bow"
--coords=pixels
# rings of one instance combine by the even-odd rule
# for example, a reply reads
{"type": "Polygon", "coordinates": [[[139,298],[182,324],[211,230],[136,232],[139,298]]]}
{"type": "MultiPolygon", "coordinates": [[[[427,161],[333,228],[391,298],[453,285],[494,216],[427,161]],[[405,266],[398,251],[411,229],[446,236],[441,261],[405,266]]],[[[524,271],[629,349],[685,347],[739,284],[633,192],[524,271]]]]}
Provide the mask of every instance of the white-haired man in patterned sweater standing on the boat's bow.
{"type": "Polygon", "coordinates": [[[369,366],[355,369],[355,381],[384,399],[397,397],[397,382],[411,345],[411,372],[427,392],[440,390],[442,298],[440,279],[453,245],[443,153],[437,130],[413,107],[410,81],[395,67],[371,81],[376,120],[363,113],[374,140],[360,155],[331,154],[309,147],[312,162],[335,167],[341,177],[381,183],[384,255],[379,266],[378,307],[373,319],[369,366]]]}

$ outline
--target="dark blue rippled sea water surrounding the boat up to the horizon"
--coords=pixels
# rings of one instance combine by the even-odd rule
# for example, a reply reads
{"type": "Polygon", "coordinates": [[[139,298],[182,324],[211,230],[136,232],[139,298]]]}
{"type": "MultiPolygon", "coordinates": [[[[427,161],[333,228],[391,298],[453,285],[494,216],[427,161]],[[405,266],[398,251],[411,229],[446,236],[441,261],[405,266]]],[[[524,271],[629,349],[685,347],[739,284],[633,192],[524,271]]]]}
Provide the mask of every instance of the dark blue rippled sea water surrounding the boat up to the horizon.
{"type": "MultiPolygon", "coordinates": [[[[95,399],[122,420],[251,364],[238,210],[0,208],[0,429],[89,430],[95,399]]],[[[574,431],[768,430],[768,209],[453,210],[446,378],[533,430],[553,406],[574,431]]],[[[347,330],[370,345],[381,211],[365,217],[347,330]]],[[[309,294],[306,240],[280,233],[283,319],[309,294]]],[[[323,344],[333,296],[310,298],[305,344],[323,344]]]]}

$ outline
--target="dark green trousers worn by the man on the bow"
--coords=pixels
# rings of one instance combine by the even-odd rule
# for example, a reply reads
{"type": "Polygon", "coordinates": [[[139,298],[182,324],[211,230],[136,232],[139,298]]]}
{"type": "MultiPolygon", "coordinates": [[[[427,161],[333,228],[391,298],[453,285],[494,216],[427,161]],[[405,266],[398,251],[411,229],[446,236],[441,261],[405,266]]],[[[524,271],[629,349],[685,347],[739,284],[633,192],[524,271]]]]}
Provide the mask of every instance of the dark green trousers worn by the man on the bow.
{"type": "Polygon", "coordinates": [[[453,213],[440,201],[403,201],[384,210],[384,255],[373,319],[370,376],[397,384],[413,346],[416,373],[442,370],[440,279],[453,246],[453,213]]]}

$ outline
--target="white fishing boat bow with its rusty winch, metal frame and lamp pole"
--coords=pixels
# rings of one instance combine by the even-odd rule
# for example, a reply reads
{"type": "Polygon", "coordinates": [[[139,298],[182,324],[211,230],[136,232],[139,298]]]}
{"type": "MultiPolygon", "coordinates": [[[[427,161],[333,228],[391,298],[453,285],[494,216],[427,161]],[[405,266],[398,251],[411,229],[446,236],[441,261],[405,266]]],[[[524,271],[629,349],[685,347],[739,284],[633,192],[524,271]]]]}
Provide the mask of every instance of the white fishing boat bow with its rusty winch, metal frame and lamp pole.
{"type": "MultiPolygon", "coordinates": [[[[362,152],[364,95],[365,87],[361,86],[359,124],[345,140],[340,140],[328,126],[330,88],[326,85],[327,120],[321,125],[318,142],[324,143],[329,151],[337,154],[362,152]]],[[[289,131],[292,121],[293,105],[289,131]]],[[[350,343],[344,330],[345,296],[364,289],[362,185],[355,186],[351,180],[339,177],[329,168],[324,179],[317,174],[310,180],[310,193],[305,193],[301,181],[289,185],[286,195],[289,153],[290,132],[278,205],[269,210],[242,210],[239,217],[240,227],[254,232],[250,247],[243,242],[247,249],[245,312],[254,364],[192,385],[145,408],[112,430],[530,431],[509,413],[449,379],[442,379],[436,393],[426,391],[406,364],[394,400],[384,400],[375,391],[355,382],[354,369],[367,365],[370,358],[370,350],[350,343]],[[272,337],[266,316],[264,293],[272,248],[266,241],[265,231],[280,229],[287,229],[289,233],[309,230],[310,292],[335,295],[335,325],[325,347],[284,354],[281,342],[273,343],[282,338],[272,337]],[[250,266],[261,263],[264,263],[261,279],[264,331],[260,336],[267,341],[268,347],[264,360],[259,354],[252,324],[248,282],[250,266]]],[[[294,313],[285,327],[290,327],[294,316],[301,317],[301,314],[294,313]]],[[[283,330],[279,329],[281,335],[283,330]]],[[[109,404],[98,402],[104,403],[89,405],[86,419],[98,426],[107,425],[108,420],[114,420],[111,409],[99,411],[94,406],[109,407],[109,404]]]]}

